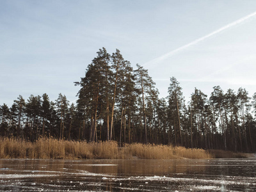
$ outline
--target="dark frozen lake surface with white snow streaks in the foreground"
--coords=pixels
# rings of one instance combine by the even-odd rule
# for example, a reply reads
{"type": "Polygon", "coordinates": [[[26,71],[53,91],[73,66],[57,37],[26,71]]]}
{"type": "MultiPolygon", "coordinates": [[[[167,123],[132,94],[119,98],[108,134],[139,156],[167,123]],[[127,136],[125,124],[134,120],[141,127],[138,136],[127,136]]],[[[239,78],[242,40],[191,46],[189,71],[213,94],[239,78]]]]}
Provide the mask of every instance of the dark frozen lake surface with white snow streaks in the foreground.
{"type": "Polygon", "coordinates": [[[0,159],[0,191],[256,191],[256,159],[0,159]]]}

